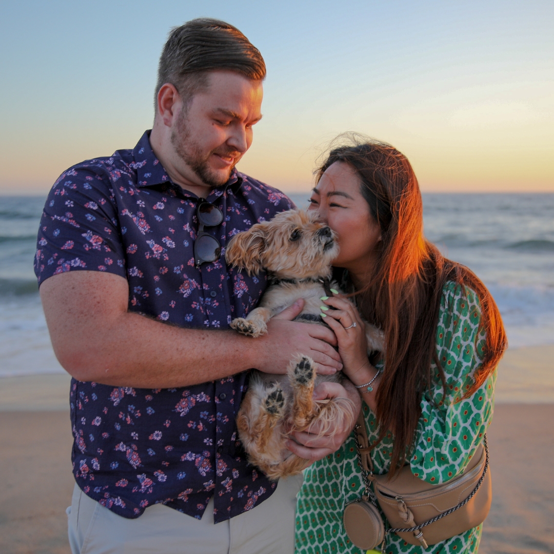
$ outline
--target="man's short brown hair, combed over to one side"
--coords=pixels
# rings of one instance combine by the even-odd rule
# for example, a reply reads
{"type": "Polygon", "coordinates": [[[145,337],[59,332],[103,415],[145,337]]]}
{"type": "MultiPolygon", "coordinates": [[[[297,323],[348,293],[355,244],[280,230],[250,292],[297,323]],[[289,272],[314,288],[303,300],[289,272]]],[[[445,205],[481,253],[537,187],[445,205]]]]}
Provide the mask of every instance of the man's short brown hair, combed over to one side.
{"type": "Polygon", "coordinates": [[[154,95],[171,83],[187,104],[206,88],[208,71],[237,71],[249,79],[265,79],[265,62],[259,50],[233,25],[218,19],[192,19],[171,30],[160,56],[154,95]]]}

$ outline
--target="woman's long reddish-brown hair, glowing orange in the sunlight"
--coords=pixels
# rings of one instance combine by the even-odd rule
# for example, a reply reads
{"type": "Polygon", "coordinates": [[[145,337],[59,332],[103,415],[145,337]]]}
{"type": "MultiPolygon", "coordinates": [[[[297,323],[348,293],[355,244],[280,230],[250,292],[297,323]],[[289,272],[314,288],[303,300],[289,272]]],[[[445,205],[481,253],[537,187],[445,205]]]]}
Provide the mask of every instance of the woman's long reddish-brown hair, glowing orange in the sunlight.
{"type": "Polygon", "coordinates": [[[480,331],[486,332],[482,363],[473,385],[476,391],[494,371],[507,341],[500,313],[485,285],[463,265],[445,259],[423,235],[423,204],[416,175],[406,156],[392,146],[365,139],[332,148],[316,170],[316,181],[335,162],[352,167],[373,218],[381,227],[378,261],[370,281],[357,291],[362,316],[385,334],[385,368],[377,390],[379,440],[391,431],[394,447],[391,476],[406,462],[421,414],[420,401],[431,388],[435,361],[445,388],[436,353],[440,300],[447,281],[475,291],[480,301],[480,331]]]}

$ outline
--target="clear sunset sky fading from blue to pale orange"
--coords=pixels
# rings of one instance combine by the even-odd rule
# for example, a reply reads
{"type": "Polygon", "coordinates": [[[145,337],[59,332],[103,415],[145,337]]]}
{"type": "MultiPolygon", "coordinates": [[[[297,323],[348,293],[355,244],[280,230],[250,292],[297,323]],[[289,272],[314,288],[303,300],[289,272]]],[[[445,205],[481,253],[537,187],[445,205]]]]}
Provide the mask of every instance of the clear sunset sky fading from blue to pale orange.
{"type": "Polygon", "coordinates": [[[422,191],[554,192],[551,0],[0,0],[0,194],[45,194],[151,129],[168,31],[237,26],[264,56],[239,170],[313,186],[339,133],[396,146],[422,191]]]}

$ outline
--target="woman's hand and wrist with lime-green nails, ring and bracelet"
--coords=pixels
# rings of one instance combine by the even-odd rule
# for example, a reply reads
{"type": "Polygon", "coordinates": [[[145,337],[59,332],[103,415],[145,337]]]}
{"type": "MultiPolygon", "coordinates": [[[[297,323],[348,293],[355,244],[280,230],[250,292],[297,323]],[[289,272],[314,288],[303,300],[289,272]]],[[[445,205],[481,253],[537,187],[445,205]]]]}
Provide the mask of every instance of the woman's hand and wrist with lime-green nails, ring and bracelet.
{"type": "MultiPolygon", "coordinates": [[[[342,371],[356,386],[372,381],[377,370],[367,357],[366,325],[356,306],[345,296],[333,292],[333,296],[322,297],[321,315],[324,321],[335,332],[338,342],[338,353],[343,363],[342,371]],[[325,309],[325,308],[328,309],[325,309]],[[335,310],[330,309],[334,307],[335,310]]],[[[380,375],[371,383],[371,390],[358,389],[364,401],[375,412],[376,392],[380,375]]]]}

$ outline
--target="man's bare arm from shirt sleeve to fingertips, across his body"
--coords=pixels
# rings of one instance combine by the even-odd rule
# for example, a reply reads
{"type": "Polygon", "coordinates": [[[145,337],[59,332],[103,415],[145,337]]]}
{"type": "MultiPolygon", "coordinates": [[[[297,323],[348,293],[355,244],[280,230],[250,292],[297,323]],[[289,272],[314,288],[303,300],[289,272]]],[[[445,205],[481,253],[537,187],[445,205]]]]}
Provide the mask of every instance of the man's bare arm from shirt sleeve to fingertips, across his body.
{"type": "MultiPolygon", "coordinates": [[[[205,383],[251,367],[285,373],[304,353],[318,371],[340,369],[332,331],[274,317],[259,338],[235,331],[182,329],[129,312],[129,286],[119,275],[69,271],[40,286],[54,352],[80,381],[120,387],[172,388],[205,383]],[[325,341],[325,342],[324,342],[325,341]]],[[[301,305],[288,314],[292,319],[301,305]]]]}

